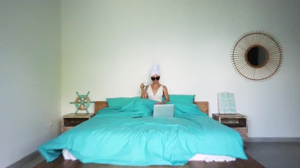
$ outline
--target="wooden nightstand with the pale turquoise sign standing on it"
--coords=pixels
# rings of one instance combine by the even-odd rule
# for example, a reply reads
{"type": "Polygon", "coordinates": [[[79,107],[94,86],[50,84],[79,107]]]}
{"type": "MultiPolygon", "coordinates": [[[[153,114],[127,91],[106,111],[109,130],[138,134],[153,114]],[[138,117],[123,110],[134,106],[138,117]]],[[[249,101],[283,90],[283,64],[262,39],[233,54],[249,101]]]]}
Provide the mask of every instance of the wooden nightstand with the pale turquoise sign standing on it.
{"type": "Polygon", "coordinates": [[[213,114],[213,119],[239,132],[243,140],[246,140],[248,138],[248,122],[246,115],[238,113],[213,114]]]}

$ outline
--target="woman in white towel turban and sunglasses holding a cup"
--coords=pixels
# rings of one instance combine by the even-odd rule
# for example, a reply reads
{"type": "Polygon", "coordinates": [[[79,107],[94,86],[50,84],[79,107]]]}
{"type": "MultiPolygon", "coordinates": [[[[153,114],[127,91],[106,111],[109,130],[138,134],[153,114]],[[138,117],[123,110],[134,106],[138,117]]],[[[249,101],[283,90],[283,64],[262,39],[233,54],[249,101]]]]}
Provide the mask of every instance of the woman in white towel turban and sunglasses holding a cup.
{"type": "Polygon", "coordinates": [[[170,101],[167,87],[159,83],[160,79],[160,70],[159,65],[154,65],[151,71],[151,80],[153,81],[152,85],[148,85],[144,90],[144,84],[141,83],[140,89],[142,90],[141,97],[143,99],[150,99],[158,101],[156,104],[166,104],[170,101]],[[163,95],[165,95],[166,100],[163,102],[163,95]]]}

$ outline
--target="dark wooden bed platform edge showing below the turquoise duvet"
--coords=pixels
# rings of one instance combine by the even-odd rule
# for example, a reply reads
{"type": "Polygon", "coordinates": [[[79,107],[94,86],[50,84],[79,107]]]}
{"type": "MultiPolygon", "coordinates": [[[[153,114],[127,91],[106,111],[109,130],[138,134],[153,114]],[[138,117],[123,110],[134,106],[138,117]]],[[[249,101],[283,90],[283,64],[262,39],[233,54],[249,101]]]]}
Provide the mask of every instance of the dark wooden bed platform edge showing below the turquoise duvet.
{"type": "Polygon", "coordinates": [[[202,168],[202,167],[213,167],[213,168],[233,168],[233,167],[243,167],[243,168],[259,168],[259,167],[264,167],[262,166],[259,162],[254,160],[252,157],[248,156],[248,160],[242,160],[242,159],[236,159],[236,161],[229,161],[229,162],[205,162],[205,161],[189,161],[186,165],[184,166],[117,166],[117,165],[109,165],[109,164],[82,164],[80,161],[75,160],[64,160],[62,156],[59,156],[57,159],[46,163],[45,161],[42,161],[38,165],[36,165],[34,168],[66,168],[66,167],[72,167],[72,168],[83,168],[83,167],[182,167],[182,168],[202,168]]]}

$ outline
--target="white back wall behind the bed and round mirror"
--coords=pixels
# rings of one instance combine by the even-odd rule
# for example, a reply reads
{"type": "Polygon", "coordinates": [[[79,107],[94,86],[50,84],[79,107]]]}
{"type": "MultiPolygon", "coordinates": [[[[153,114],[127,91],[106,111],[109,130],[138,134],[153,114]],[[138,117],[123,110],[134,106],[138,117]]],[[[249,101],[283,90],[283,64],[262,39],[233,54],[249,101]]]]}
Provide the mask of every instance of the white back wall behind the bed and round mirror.
{"type": "MultiPolygon", "coordinates": [[[[75,92],[91,100],[139,96],[153,64],[169,94],[196,94],[218,113],[235,94],[249,137],[300,137],[299,1],[62,1],[62,115],[75,92]],[[284,49],[279,73],[247,81],[230,62],[234,41],[265,30],[284,49]]],[[[90,111],[94,110],[92,105],[90,111]]],[[[84,111],[83,111],[84,112],[84,111]]]]}

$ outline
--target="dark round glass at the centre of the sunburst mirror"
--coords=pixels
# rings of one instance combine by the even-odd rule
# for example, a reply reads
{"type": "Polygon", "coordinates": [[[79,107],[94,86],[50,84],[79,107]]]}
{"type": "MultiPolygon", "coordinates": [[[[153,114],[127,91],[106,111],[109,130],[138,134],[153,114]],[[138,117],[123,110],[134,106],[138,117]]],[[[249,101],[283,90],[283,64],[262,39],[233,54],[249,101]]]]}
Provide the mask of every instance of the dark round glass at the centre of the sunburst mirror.
{"type": "Polygon", "coordinates": [[[262,66],[265,64],[267,54],[262,47],[253,47],[247,53],[248,62],[253,66],[262,66]]]}

